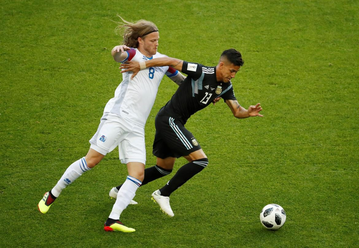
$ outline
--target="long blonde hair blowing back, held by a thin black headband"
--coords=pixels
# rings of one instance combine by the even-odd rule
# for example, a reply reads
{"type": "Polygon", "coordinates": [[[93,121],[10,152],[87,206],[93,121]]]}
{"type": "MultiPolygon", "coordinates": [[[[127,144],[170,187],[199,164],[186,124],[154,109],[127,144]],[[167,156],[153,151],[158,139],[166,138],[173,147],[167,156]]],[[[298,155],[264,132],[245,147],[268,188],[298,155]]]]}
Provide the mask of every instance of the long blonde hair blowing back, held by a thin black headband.
{"type": "MultiPolygon", "coordinates": [[[[120,17],[120,15],[117,15],[120,17]]],[[[118,25],[115,29],[115,32],[118,33],[121,29],[123,29],[123,41],[122,45],[126,45],[128,47],[136,48],[138,47],[138,37],[145,37],[147,34],[151,32],[158,31],[157,26],[153,22],[149,22],[146,20],[138,20],[135,23],[127,22],[122,17],[121,22],[117,22],[118,25]]]]}

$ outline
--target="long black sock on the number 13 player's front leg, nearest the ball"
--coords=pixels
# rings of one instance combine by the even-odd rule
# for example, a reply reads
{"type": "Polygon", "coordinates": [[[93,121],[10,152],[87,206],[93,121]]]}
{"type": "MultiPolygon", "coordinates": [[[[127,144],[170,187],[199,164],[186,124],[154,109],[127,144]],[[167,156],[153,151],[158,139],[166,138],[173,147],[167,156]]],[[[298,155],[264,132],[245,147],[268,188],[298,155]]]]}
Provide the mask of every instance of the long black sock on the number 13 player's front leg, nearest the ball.
{"type": "Polygon", "coordinates": [[[207,165],[207,158],[193,160],[192,162],[183,165],[177,170],[171,180],[169,180],[169,182],[159,190],[161,192],[161,196],[171,195],[173,191],[181,187],[185,182],[203,170],[207,165]]]}

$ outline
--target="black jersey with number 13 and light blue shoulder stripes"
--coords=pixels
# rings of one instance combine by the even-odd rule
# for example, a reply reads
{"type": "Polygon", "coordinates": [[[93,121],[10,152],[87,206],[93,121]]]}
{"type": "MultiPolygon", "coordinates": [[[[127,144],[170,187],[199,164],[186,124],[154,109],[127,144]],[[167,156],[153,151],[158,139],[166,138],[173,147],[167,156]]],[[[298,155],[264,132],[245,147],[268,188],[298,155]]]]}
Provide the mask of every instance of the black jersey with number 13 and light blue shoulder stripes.
{"type": "Polygon", "coordinates": [[[211,104],[217,97],[237,100],[232,83],[217,82],[216,67],[183,61],[182,72],[188,75],[187,78],[171,100],[160,109],[159,116],[172,116],[185,125],[192,114],[211,104]]]}

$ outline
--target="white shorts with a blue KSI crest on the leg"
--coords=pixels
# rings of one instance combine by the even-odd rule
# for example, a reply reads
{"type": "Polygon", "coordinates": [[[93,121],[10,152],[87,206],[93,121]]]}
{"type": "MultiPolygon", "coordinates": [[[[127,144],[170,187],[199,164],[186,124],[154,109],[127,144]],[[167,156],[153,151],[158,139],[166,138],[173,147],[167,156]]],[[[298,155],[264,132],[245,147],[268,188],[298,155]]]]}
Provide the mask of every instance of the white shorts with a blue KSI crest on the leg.
{"type": "Polygon", "coordinates": [[[121,163],[146,163],[145,128],[114,113],[103,113],[90,148],[106,155],[118,146],[121,163]]]}

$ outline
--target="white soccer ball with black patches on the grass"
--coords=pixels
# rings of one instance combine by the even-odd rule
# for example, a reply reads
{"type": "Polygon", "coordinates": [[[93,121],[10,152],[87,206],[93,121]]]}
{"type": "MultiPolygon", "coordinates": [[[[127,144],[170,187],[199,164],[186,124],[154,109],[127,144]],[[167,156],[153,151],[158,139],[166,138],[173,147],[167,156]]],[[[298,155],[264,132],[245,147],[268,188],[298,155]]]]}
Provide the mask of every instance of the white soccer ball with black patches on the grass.
{"type": "Polygon", "coordinates": [[[277,204],[268,204],[259,215],[262,225],[267,229],[277,230],[283,226],[286,215],[283,207],[277,204]]]}

